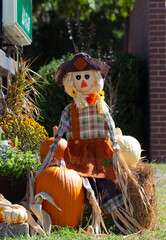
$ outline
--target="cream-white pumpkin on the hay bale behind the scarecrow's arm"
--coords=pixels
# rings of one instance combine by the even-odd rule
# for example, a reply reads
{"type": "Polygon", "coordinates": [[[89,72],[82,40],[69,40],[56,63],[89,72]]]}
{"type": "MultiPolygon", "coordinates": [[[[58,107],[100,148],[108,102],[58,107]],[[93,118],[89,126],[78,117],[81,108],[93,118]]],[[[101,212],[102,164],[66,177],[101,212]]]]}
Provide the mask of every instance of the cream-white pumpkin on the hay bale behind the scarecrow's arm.
{"type": "Polygon", "coordinates": [[[116,128],[117,142],[123,153],[125,161],[129,167],[136,167],[141,159],[141,146],[140,143],[131,136],[122,135],[120,128],[116,128]]]}

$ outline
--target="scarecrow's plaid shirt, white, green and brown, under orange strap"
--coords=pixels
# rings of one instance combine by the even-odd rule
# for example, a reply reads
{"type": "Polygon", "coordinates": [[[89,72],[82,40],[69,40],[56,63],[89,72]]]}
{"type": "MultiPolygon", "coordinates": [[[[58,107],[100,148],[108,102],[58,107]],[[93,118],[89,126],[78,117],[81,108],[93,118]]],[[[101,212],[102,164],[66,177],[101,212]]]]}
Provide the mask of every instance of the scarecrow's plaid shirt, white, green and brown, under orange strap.
{"type": "MultiPolygon", "coordinates": [[[[79,109],[80,139],[111,138],[115,141],[115,124],[109,112],[100,114],[96,104],[79,109]]],[[[62,112],[54,142],[57,143],[62,135],[67,132],[67,140],[73,140],[71,124],[71,104],[62,112]]]]}

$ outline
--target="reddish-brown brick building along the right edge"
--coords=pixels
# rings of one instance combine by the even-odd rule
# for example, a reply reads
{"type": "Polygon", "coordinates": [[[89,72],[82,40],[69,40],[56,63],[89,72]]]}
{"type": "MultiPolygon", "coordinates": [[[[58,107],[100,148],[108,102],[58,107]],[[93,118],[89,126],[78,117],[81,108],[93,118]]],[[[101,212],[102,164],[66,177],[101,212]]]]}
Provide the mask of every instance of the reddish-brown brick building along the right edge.
{"type": "Polygon", "coordinates": [[[148,64],[150,158],[166,162],[165,0],[136,0],[128,29],[128,52],[148,64]]]}

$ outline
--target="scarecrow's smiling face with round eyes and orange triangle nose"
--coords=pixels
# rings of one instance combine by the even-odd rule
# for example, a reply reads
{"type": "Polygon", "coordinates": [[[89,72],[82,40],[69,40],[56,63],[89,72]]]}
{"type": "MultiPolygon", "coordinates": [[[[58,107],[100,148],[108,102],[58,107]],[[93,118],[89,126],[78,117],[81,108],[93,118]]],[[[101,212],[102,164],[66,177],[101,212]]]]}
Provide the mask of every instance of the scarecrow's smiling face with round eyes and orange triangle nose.
{"type": "Polygon", "coordinates": [[[73,85],[82,95],[97,94],[95,70],[72,72],[73,85]]]}

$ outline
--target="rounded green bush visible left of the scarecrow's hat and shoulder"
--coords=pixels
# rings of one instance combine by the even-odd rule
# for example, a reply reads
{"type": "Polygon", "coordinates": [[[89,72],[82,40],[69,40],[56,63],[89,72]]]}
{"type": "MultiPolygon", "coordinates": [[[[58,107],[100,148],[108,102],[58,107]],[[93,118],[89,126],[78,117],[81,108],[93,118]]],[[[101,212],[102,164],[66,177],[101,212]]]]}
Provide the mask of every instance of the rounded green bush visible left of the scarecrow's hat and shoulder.
{"type": "Polygon", "coordinates": [[[53,127],[59,124],[61,112],[71,100],[71,97],[64,92],[64,87],[56,86],[55,71],[61,63],[72,57],[72,54],[68,54],[61,59],[53,59],[48,65],[42,67],[39,72],[47,80],[43,81],[41,79],[40,85],[43,90],[38,89],[44,97],[44,99],[38,99],[41,112],[40,123],[45,126],[49,136],[53,136],[53,127]]]}

